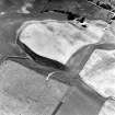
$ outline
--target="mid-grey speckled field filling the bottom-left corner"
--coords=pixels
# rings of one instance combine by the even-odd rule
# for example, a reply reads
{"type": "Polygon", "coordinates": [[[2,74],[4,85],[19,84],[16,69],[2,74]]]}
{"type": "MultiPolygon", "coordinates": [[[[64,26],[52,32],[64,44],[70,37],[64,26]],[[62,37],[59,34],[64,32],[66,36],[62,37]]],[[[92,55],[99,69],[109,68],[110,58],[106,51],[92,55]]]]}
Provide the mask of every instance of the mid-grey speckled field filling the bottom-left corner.
{"type": "Polygon", "coordinates": [[[0,66],[0,115],[50,115],[68,87],[16,62],[0,66]]]}

